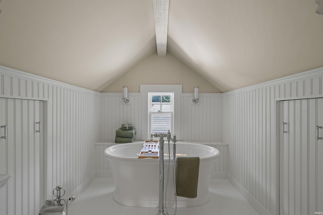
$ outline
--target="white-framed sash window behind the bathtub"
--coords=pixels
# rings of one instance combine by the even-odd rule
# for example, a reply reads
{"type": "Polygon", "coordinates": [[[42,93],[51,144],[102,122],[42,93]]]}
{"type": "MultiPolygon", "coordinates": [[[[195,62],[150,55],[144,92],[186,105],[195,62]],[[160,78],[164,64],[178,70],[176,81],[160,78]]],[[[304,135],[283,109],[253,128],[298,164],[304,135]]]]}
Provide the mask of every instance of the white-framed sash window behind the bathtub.
{"type": "Polygon", "coordinates": [[[173,131],[174,93],[148,93],[150,133],[173,131]]]}

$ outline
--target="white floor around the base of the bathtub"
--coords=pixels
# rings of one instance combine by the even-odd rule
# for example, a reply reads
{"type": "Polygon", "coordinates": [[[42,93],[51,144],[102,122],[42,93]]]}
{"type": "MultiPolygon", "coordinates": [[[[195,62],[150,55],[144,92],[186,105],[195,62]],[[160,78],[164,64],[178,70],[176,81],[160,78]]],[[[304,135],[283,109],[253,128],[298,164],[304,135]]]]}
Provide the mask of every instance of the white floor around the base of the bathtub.
{"type": "MultiPolygon", "coordinates": [[[[112,178],[96,178],[76,196],[68,208],[68,215],[156,215],[155,207],[128,207],[118,204],[112,198],[112,178]]],[[[238,190],[223,179],[210,181],[210,201],[199,207],[178,208],[178,215],[259,215],[242,197],[238,190]]],[[[173,215],[175,208],[168,208],[173,215]]]]}

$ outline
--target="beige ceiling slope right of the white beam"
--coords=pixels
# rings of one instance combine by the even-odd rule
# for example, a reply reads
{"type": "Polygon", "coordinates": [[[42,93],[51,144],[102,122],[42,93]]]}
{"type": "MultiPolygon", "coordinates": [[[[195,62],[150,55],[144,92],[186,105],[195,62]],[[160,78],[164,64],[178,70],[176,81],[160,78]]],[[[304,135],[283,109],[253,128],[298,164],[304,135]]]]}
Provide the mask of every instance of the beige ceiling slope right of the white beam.
{"type": "Polygon", "coordinates": [[[222,92],[323,66],[314,1],[171,1],[168,51],[222,92]]]}

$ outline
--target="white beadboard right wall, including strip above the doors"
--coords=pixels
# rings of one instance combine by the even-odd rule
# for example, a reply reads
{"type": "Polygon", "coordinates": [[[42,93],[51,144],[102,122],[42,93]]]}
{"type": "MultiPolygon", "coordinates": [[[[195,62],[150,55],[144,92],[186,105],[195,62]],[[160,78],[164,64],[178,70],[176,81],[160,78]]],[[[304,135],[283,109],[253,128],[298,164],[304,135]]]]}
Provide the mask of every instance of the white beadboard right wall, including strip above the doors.
{"type": "Polygon", "coordinates": [[[278,214],[276,101],[323,97],[323,68],[223,94],[222,141],[229,144],[229,173],[261,213],[278,214]]]}

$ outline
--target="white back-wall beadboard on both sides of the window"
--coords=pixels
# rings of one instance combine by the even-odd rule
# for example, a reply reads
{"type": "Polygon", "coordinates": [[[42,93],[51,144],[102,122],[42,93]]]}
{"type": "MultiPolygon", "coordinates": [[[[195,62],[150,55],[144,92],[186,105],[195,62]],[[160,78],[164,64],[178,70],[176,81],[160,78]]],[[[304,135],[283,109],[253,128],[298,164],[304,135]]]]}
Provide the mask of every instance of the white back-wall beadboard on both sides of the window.
{"type": "MultiPolygon", "coordinates": [[[[129,93],[131,104],[123,104],[122,93],[102,93],[101,140],[114,141],[115,131],[122,123],[133,124],[137,129],[136,140],[141,136],[141,93],[129,93]]],[[[199,94],[198,104],[192,104],[193,94],[181,95],[181,140],[220,141],[221,140],[221,94],[199,94]]]]}

